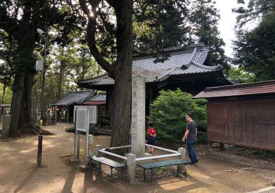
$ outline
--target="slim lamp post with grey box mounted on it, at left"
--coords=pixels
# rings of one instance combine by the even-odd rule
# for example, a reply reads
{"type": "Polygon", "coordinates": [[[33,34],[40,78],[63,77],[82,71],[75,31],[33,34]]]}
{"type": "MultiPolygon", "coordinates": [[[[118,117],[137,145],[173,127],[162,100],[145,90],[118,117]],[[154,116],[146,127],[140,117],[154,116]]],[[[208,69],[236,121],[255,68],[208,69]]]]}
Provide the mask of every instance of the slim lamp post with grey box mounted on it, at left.
{"type": "Polygon", "coordinates": [[[46,64],[46,57],[47,57],[47,37],[46,33],[37,28],[37,32],[41,37],[43,37],[45,41],[44,45],[44,59],[43,61],[36,61],[36,70],[41,72],[41,104],[40,104],[40,121],[39,121],[39,144],[37,148],[37,167],[41,167],[41,161],[42,161],[42,141],[43,141],[43,135],[42,135],[42,127],[43,127],[43,105],[44,105],[44,89],[45,89],[45,64],[46,64]]]}

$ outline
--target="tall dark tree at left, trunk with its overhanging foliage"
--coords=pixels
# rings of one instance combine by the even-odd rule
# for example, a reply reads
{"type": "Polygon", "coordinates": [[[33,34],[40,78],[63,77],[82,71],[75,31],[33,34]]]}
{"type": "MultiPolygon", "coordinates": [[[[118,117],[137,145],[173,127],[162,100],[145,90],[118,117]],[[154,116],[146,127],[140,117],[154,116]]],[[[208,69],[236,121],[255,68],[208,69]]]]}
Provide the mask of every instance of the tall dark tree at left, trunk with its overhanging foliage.
{"type": "Polygon", "coordinates": [[[34,50],[38,48],[36,28],[47,32],[56,23],[65,25],[69,12],[61,12],[61,1],[0,1],[0,29],[12,37],[17,48],[12,58],[13,94],[10,136],[32,132],[32,85],[34,81],[34,50]],[[62,21],[62,22],[61,22],[62,21]]]}

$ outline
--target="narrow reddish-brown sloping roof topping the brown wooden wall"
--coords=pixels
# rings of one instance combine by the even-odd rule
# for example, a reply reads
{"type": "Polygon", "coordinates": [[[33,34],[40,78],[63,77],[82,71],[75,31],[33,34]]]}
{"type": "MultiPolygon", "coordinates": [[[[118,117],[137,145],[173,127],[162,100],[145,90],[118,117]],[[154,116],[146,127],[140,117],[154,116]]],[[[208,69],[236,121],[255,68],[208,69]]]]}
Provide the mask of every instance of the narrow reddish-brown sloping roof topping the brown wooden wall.
{"type": "Polygon", "coordinates": [[[256,94],[275,94],[275,81],[206,88],[206,90],[200,92],[197,96],[194,96],[194,98],[247,96],[256,94]]]}

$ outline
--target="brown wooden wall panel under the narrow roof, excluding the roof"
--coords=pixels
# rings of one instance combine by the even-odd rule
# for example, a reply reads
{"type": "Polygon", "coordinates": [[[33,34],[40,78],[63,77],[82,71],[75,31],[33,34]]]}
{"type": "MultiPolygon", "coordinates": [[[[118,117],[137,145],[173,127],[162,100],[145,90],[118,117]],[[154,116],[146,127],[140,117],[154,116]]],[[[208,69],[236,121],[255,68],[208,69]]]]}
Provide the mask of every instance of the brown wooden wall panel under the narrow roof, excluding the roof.
{"type": "Polygon", "coordinates": [[[275,150],[275,99],[209,101],[208,141],[275,150]]]}

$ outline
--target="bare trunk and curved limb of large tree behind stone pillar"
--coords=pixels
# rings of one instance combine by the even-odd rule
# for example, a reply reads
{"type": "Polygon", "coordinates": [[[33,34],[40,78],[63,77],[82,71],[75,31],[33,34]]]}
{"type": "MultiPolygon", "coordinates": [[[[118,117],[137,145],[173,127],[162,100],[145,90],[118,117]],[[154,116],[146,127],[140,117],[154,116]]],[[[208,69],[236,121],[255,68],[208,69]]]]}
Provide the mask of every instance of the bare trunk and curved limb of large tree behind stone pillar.
{"type": "MultiPolygon", "coordinates": [[[[110,64],[100,54],[96,46],[96,8],[99,1],[89,1],[91,12],[85,0],[79,0],[80,6],[87,15],[87,43],[98,64],[115,80],[114,103],[111,109],[111,147],[126,145],[130,128],[131,112],[131,85],[132,85],[132,59],[133,59],[133,0],[108,0],[110,6],[115,9],[116,15],[116,43],[117,58],[110,64]]],[[[122,152],[120,152],[122,153],[122,152]]]]}

